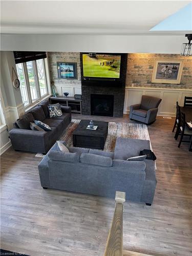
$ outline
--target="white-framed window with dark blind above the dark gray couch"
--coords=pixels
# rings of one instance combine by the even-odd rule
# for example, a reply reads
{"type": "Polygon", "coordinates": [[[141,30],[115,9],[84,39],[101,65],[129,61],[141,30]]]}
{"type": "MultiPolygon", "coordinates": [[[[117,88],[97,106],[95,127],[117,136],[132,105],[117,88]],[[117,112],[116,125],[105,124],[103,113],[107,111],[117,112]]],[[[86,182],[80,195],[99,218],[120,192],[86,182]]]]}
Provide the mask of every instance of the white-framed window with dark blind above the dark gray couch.
{"type": "Polygon", "coordinates": [[[44,59],[16,64],[25,108],[47,95],[44,59]]]}

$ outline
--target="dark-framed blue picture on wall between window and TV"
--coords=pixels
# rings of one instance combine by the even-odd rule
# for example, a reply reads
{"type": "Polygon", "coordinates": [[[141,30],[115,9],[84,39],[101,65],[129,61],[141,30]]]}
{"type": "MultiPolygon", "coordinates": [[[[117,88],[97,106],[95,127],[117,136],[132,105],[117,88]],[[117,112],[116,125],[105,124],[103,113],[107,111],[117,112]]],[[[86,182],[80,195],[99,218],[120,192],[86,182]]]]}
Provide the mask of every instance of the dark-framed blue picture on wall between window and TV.
{"type": "Polygon", "coordinates": [[[77,63],[57,62],[58,78],[77,79],[77,63]]]}

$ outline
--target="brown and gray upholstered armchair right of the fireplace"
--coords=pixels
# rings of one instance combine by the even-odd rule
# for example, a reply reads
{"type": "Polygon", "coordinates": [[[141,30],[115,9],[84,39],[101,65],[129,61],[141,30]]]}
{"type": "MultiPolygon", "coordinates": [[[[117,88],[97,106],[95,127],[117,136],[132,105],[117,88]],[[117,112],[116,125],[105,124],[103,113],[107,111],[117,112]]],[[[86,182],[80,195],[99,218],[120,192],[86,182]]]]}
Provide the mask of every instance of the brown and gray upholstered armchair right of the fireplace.
{"type": "Polygon", "coordinates": [[[143,95],[140,104],[130,106],[130,119],[146,124],[156,120],[160,98],[143,95]]]}

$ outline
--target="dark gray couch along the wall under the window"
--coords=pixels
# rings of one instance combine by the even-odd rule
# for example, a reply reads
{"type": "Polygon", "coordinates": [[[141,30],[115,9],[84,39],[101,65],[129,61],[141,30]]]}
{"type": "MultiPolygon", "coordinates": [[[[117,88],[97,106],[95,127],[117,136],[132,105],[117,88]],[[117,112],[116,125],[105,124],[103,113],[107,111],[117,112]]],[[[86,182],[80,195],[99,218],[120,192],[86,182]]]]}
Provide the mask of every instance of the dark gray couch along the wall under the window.
{"type": "Polygon", "coordinates": [[[46,154],[66,127],[71,122],[71,108],[61,106],[62,116],[49,117],[49,100],[42,101],[38,106],[26,113],[22,118],[13,123],[13,129],[9,131],[14,150],[29,151],[46,154]],[[29,123],[39,120],[51,127],[51,131],[33,131],[29,123]]]}

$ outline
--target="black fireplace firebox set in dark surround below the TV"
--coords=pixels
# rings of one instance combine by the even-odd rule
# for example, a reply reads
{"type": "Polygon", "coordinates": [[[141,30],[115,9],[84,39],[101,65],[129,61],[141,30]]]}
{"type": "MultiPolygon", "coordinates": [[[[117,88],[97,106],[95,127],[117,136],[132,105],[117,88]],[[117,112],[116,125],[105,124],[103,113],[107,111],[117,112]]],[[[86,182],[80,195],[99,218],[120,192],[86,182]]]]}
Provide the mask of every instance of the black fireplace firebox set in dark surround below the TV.
{"type": "Polygon", "coordinates": [[[91,115],[113,116],[114,95],[91,94],[91,115]]]}

